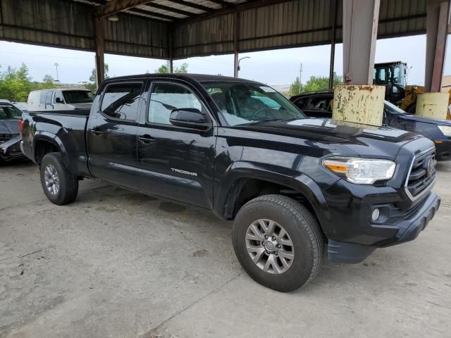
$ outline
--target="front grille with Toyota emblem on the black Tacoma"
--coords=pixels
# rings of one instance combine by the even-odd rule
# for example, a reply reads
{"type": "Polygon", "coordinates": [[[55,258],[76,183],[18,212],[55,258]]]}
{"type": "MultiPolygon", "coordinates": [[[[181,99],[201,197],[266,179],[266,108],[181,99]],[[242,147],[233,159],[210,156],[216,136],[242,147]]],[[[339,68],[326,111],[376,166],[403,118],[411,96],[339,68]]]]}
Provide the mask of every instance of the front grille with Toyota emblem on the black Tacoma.
{"type": "Polygon", "coordinates": [[[428,149],[414,157],[407,175],[405,189],[410,199],[419,199],[428,192],[428,187],[435,182],[435,148],[428,149]]]}

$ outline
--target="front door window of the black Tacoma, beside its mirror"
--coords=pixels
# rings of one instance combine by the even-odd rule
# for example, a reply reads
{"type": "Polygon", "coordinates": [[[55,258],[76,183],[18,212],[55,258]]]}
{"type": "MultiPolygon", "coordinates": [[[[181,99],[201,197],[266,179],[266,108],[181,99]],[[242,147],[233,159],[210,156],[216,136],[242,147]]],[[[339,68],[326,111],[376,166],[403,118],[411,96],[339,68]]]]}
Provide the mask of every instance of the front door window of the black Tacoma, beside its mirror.
{"type": "Polygon", "coordinates": [[[182,108],[196,108],[202,111],[202,104],[190,89],[180,84],[156,83],[152,86],[149,122],[170,125],[171,112],[182,108]]]}

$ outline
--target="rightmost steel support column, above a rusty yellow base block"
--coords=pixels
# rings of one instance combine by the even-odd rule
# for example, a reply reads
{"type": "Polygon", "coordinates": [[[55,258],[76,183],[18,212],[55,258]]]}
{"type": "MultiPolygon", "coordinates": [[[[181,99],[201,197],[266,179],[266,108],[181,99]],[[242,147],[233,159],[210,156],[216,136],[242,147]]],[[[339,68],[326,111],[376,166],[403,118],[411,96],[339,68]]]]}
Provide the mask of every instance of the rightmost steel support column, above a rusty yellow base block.
{"type": "Polygon", "coordinates": [[[445,64],[450,1],[429,0],[426,19],[426,92],[440,92],[445,64]]]}

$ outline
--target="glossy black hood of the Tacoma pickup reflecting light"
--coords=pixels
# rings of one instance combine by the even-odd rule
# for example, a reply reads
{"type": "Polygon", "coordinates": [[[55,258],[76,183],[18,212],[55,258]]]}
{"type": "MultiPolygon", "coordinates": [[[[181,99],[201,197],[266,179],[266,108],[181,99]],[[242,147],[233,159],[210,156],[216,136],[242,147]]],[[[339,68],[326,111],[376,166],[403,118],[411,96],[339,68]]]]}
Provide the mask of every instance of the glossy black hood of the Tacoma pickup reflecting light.
{"type": "MultiPolygon", "coordinates": [[[[352,156],[366,158],[394,159],[404,144],[414,139],[424,138],[419,134],[390,127],[376,127],[359,123],[326,120],[322,118],[305,118],[302,120],[285,120],[276,122],[259,122],[237,126],[249,131],[263,132],[283,137],[305,139],[319,144],[327,144],[330,149],[347,152],[352,156]]],[[[432,143],[432,142],[431,142],[432,143]]]]}

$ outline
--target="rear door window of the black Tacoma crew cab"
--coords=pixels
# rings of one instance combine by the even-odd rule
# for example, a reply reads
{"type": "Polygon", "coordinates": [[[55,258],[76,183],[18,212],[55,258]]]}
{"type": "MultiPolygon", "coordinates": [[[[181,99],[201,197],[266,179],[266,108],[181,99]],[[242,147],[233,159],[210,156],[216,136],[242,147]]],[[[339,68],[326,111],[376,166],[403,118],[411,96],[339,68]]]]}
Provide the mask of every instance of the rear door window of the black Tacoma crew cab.
{"type": "Polygon", "coordinates": [[[142,82],[123,82],[106,87],[101,112],[121,120],[137,119],[142,82]]]}

